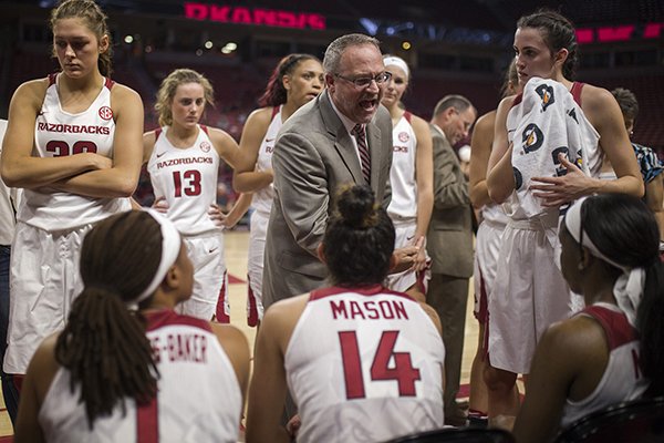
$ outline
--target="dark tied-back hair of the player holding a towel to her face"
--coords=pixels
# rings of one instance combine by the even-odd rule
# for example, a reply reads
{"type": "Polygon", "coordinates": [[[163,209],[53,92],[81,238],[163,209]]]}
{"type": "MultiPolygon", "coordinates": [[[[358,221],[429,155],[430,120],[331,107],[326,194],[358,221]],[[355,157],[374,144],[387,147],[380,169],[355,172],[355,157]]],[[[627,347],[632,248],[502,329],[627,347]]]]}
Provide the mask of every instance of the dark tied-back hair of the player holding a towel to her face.
{"type": "Polygon", "coordinates": [[[549,9],[540,9],[529,16],[523,16],[517,22],[517,28],[533,28],[543,31],[542,39],[551,54],[561,49],[568,50],[568,58],[562,65],[562,75],[574,80],[579,62],[579,44],[574,25],[564,16],[549,9]]]}

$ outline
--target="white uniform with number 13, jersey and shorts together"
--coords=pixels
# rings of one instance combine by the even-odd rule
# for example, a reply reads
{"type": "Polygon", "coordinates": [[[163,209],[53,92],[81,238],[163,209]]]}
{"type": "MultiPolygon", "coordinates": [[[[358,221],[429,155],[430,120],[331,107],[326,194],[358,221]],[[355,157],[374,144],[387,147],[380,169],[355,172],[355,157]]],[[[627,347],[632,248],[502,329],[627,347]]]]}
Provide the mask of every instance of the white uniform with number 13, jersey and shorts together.
{"type": "Polygon", "coordinates": [[[165,126],[155,132],[147,172],[155,198],[168,204],[167,217],[183,234],[194,265],[194,291],[178,311],[204,320],[217,315],[228,322],[224,236],[207,214],[217,200],[219,154],[206,126],[199,125],[198,137],[185,148],[168,141],[168,131],[165,126]]]}

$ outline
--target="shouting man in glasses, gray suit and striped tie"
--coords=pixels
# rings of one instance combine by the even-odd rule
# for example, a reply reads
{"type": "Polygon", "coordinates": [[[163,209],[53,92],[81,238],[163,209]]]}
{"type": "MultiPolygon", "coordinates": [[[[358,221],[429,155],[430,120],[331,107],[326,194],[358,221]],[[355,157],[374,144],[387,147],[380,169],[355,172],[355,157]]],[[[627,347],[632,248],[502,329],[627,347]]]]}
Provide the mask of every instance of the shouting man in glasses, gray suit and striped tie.
{"type": "Polygon", "coordinates": [[[266,308],[324,285],[328,270],[317,248],[341,186],[371,185],[376,199],[388,203],[392,121],[381,99],[390,74],[378,41],[343,35],[328,47],[323,69],[326,90],[284,123],[272,155],[266,308]]]}

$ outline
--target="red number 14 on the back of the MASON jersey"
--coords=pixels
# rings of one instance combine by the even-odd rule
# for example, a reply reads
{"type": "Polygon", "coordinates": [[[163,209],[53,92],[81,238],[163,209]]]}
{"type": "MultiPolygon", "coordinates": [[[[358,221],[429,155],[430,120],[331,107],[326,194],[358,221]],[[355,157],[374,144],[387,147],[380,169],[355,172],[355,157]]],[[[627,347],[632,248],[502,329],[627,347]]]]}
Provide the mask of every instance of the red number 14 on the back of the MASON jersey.
{"type": "MultiPolygon", "coordinates": [[[[397,338],[398,331],[383,331],[371,364],[371,380],[394,380],[398,384],[400,396],[415,396],[417,395],[415,382],[421,380],[419,369],[413,368],[409,352],[394,352],[397,338]],[[394,358],[394,362],[390,365],[392,358],[394,358]]],[[[339,332],[339,343],[341,344],[346,398],[349,400],[363,399],[366,394],[356,332],[339,332]]]]}

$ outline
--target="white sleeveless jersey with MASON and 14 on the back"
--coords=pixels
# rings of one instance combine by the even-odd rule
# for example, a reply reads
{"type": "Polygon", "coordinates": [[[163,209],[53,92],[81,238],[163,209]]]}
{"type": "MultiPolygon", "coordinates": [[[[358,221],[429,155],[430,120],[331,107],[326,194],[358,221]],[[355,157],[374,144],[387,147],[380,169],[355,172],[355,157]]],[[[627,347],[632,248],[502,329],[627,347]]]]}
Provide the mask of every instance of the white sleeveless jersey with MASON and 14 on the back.
{"type": "Polygon", "coordinates": [[[298,442],[377,442],[443,426],[444,360],[440,334],[405,293],[312,291],[284,357],[298,442]]]}

